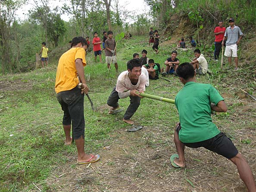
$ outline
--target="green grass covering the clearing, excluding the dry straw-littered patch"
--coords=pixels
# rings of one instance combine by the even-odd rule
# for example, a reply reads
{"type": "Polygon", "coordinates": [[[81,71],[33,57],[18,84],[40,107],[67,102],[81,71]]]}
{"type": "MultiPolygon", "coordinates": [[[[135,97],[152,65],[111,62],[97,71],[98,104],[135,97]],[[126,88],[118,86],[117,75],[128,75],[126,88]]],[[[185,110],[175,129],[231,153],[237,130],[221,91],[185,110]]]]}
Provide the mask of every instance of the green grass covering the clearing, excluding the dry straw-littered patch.
{"type": "MultiPolygon", "coordinates": [[[[147,56],[150,59],[154,59],[163,67],[165,59],[170,56],[173,48],[160,44],[161,52],[156,55],[144,37],[123,40],[117,46],[119,71],[125,71],[126,62],[132,59],[133,53],[141,55],[143,49],[148,51],[147,56]]],[[[188,58],[193,57],[191,51],[178,53],[181,62],[189,62],[188,58]]],[[[84,71],[94,106],[106,105],[117,80],[114,66],[112,65],[112,70],[108,74],[106,64],[94,62],[92,52],[86,59],[88,64],[84,71]]],[[[16,87],[0,92],[0,96],[3,96],[0,97],[0,191],[29,191],[34,187],[33,183],[40,183],[43,186],[41,190],[47,191],[49,186],[44,180],[53,170],[67,163],[71,164],[71,169],[76,167],[75,145],[71,147],[63,145],[62,110],[54,92],[57,63],[50,61],[49,65],[48,68],[29,73],[0,77],[0,82],[8,81],[9,86],[16,87]],[[73,158],[68,158],[68,155],[73,158]]],[[[209,63],[214,71],[212,84],[217,87],[216,81],[219,75],[225,75],[219,74],[219,65],[219,63],[217,65],[209,63]]],[[[183,85],[177,77],[171,75],[168,78],[172,83],[164,80],[150,81],[146,93],[174,99],[183,85]]],[[[205,76],[199,77],[198,81],[208,83],[205,76]]],[[[119,105],[126,109],[129,99],[120,99],[119,105]]],[[[112,116],[108,115],[107,111],[107,108],[103,109],[103,112],[92,111],[89,101],[84,98],[87,153],[100,151],[108,142],[109,134],[114,130],[125,130],[129,127],[122,123],[123,112],[112,116]]],[[[228,118],[228,115],[215,118],[220,121],[228,118]]],[[[170,124],[178,122],[178,112],[173,104],[144,98],[133,120],[144,126],[170,127],[170,124]]],[[[172,129],[165,129],[172,134],[172,129]]],[[[144,142],[148,146],[157,148],[158,145],[167,145],[165,140],[154,140],[151,134],[144,135],[144,142]]],[[[136,148],[134,153],[136,154],[136,148]]],[[[114,166],[115,162],[109,162],[109,165],[114,166]]],[[[137,171],[140,175],[140,169],[137,171]]]]}

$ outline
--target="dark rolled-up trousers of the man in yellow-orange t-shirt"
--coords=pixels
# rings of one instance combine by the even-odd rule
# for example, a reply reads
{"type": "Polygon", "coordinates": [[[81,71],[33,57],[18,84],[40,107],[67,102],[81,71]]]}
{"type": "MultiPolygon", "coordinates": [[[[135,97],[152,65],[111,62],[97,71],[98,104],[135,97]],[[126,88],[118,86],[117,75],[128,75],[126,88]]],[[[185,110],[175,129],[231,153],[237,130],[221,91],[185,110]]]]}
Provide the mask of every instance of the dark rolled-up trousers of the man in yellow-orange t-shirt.
{"type": "Polygon", "coordinates": [[[62,124],[70,125],[72,122],[73,138],[84,138],[84,94],[78,87],[72,90],[62,91],[56,95],[62,111],[64,111],[62,124]]]}

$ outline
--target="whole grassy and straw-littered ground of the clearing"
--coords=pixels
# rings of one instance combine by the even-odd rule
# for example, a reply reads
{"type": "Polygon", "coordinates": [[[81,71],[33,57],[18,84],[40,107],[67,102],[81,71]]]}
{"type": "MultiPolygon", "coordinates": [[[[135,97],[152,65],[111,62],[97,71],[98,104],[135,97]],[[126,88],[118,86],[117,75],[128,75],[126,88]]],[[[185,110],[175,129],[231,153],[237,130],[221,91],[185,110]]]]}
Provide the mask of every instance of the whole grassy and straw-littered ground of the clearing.
{"type": "MultiPolygon", "coordinates": [[[[170,165],[169,157],[176,153],[173,127],[179,121],[175,105],[142,99],[132,119],[144,128],[135,133],[127,132],[130,126],[122,121],[128,98],[119,102],[123,112],[108,115],[106,101],[117,74],[114,66],[108,74],[106,64],[94,62],[92,52],[87,55],[84,71],[97,110],[92,111],[84,97],[85,150],[100,154],[101,160],[90,166],[76,164],[75,144],[64,146],[62,110],[54,92],[57,61],[65,49],[53,51],[47,68],[0,77],[1,192],[246,190],[236,167],[205,149],[186,149],[185,169],[170,165]]],[[[168,43],[160,44],[156,55],[143,37],[123,40],[117,46],[119,71],[125,71],[133,53],[141,56],[143,49],[162,67],[174,50],[168,43]]],[[[189,58],[193,58],[192,50],[178,50],[181,63],[189,58]]],[[[213,121],[247,158],[255,177],[256,104],[240,90],[255,95],[255,81],[245,75],[247,71],[234,73],[233,67],[227,66],[220,71],[219,62],[206,59],[213,75],[209,79],[197,77],[197,81],[210,82],[228,104],[228,112],[213,116],[213,121]]],[[[174,99],[183,85],[178,77],[170,75],[168,79],[171,82],[150,81],[146,93],[174,99]]]]}

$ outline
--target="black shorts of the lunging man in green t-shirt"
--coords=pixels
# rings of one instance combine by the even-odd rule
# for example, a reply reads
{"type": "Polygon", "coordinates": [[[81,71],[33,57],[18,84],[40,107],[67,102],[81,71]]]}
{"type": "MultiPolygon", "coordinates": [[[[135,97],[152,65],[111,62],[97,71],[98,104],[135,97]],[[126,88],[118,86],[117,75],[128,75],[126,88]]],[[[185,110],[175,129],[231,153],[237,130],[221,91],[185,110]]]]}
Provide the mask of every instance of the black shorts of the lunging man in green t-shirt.
{"type": "MultiPolygon", "coordinates": [[[[181,125],[176,127],[177,133],[181,130],[181,125]]],[[[218,153],[225,158],[231,159],[237,155],[237,148],[234,146],[231,139],[229,139],[225,133],[219,133],[218,135],[200,142],[184,143],[185,146],[190,148],[204,147],[212,152],[218,153]]]]}

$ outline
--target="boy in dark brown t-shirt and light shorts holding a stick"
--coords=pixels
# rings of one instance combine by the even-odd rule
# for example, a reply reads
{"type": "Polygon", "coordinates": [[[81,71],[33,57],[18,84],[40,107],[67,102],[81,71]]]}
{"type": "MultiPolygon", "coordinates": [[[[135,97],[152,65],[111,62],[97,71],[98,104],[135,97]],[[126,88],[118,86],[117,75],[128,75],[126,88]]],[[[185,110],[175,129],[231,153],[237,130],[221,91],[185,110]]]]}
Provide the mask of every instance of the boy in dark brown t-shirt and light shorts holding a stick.
{"type": "Polygon", "coordinates": [[[116,59],[116,41],[113,39],[113,32],[108,31],[108,39],[105,41],[105,55],[107,67],[110,68],[110,62],[115,63],[116,72],[118,71],[117,59],[116,59]]]}

